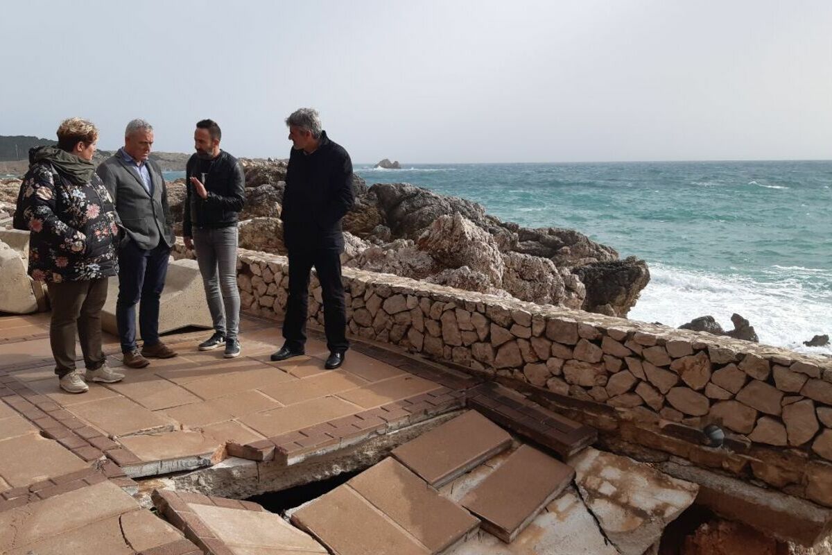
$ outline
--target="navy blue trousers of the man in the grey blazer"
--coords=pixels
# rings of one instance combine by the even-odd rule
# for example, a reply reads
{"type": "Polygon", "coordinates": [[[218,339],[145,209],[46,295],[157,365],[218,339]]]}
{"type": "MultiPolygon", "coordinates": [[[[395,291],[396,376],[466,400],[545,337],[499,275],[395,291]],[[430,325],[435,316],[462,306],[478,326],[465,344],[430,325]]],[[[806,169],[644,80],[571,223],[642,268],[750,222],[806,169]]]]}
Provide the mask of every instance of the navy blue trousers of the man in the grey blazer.
{"type": "Polygon", "coordinates": [[[159,343],[159,298],[165,289],[170,254],[170,247],[161,241],[144,250],[130,240],[118,250],[116,326],[122,353],[136,349],[136,304],[141,339],[147,346],[159,343]]]}

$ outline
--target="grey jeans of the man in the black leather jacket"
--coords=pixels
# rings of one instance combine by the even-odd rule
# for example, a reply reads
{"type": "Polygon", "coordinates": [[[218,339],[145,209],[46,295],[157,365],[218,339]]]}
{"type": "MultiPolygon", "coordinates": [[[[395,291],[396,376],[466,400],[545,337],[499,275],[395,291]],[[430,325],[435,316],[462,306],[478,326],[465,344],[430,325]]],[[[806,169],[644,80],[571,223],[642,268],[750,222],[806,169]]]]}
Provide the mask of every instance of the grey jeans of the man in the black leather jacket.
{"type": "Polygon", "coordinates": [[[236,339],[240,329],[237,226],[215,230],[194,228],[193,240],[214,330],[225,334],[226,338],[236,339]]]}

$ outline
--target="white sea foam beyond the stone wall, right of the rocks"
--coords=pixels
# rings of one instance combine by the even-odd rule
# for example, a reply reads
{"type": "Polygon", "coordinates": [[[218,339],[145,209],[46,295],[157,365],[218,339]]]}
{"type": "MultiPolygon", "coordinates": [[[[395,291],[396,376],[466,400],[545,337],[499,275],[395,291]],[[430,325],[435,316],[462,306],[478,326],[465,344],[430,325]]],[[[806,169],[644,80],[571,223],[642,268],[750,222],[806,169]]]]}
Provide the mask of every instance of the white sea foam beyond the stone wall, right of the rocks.
{"type": "Polygon", "coordinates": [[[832,333],[832,290],[823,286],[832,281],[832,273],[821,277],[822,286],[810,288],[795,275],[801,271],[818,275],[815,269],[775,267],[766,272],[770,280],[764,282],[651,264],[650,284],[628,317],[678,327],[698,316],[711,315],[730,330],[730,315],[736,312],[754,326],[760,343],[832,354],[832,347],[803,344],[815,334],[832,333]]]}

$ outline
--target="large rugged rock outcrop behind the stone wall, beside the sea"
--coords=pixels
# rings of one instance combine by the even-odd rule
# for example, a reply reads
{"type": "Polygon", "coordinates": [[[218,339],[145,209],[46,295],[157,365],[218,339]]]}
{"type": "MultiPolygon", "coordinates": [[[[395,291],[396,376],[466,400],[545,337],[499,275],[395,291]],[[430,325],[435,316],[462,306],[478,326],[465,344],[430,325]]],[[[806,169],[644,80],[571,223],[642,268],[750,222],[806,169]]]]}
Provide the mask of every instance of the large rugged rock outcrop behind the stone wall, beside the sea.
{"type": "MultiPolygon", "coordinates": [[[[240,246],[285,254],[279,216],[286,161],[241,163],[240,246]]],[[[181,221],[178,190],[169,189],[181,221]]],[[[476,202],[407,183],[368,187],[354,176],[353,190],[354,207],[343,222],[344,265],[615,316],[626,316],[650,280],[643,260],[618,260],[616,250],[575,230],[524,228],[489,216],[476,202]]]]}

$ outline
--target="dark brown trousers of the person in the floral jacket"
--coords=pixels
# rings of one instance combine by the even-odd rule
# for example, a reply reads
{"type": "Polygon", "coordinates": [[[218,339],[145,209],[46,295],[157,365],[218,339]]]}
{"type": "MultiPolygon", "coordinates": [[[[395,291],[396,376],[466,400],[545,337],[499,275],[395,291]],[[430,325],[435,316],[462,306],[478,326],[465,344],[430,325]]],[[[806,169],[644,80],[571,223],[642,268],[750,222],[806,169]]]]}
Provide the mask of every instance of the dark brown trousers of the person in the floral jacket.
{"type": "Polygon", "coordinates": [[[84,365],[95,370],[104,364],[102,308],[106,301],[106,288],[107,278],[49,284],[49,302],[52,304],[49,344],[58,376],[75,371],[76,330],[84,354],[84,365]]]}

